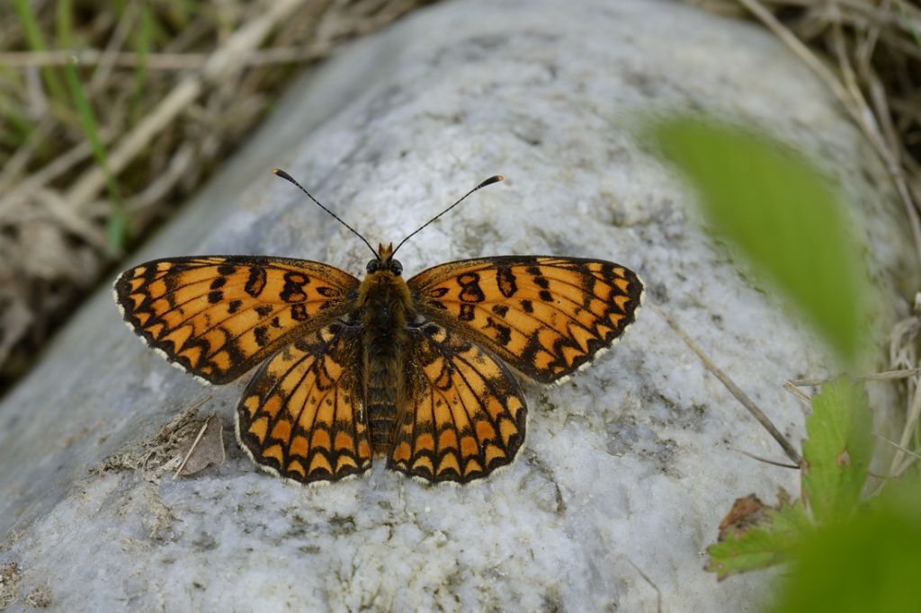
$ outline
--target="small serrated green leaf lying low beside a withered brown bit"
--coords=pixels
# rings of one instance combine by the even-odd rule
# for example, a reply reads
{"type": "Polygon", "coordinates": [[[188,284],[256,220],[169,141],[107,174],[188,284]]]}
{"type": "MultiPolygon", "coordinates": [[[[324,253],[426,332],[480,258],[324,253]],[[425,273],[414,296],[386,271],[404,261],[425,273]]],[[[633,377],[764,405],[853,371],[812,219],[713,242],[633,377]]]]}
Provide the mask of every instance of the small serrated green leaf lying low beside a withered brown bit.
{"type": "Polygon", "coordinates": [[[741,531],[729,531],[724,540],[706,549],[706,570],[720,580],[787,561],[812,524],[802,503],[766,508],[764,515],[741,531]]]}

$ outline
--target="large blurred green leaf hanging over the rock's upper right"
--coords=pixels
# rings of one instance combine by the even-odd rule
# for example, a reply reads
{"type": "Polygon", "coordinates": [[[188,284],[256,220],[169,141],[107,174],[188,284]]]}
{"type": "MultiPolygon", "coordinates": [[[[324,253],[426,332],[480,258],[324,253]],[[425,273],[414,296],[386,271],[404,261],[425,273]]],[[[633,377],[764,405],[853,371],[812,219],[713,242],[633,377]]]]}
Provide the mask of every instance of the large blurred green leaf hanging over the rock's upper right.
{"type": "Polygon", "coordinates": [[[694,184],[705,216],[853,364],[861,345],[860,248],[821,173],[766,136],[714,121],[648,131],[694,184]]]}

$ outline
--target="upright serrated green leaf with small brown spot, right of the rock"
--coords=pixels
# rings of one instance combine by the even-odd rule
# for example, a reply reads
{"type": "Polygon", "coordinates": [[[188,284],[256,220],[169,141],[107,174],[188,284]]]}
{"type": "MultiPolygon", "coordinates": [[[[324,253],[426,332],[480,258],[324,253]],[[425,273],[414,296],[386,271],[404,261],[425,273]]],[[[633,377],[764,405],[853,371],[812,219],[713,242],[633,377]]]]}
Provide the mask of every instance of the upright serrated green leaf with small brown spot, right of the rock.
{"type": "Polygon", "coordinates": [[[873,420],[862,385],[845,377],[812,399],[803,442],[803,495],[816,522],[854,512],[873,453],[873,420]]]}

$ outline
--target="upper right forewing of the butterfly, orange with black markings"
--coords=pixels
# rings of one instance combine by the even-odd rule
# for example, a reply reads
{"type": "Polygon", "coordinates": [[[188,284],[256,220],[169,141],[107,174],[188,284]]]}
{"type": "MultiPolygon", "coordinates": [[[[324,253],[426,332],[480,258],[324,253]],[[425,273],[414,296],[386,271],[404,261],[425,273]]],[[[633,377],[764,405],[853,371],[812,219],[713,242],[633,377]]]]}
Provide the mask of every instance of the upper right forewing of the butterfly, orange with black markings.
{"type": "Polygon", "coordinates": [[[426,318],[470,333],[521,374],[553,383],[589,364],[634,322],[635,272],[604,260],[461,260],[407,282],[426,318]]]}

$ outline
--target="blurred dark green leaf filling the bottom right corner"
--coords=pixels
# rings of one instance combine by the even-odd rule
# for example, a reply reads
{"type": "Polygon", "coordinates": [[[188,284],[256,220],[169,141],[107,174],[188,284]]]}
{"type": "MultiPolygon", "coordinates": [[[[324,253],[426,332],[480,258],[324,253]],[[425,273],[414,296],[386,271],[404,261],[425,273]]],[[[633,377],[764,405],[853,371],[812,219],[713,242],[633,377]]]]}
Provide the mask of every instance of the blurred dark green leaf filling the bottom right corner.
{"type": "Polygon", "coordinates": [[[921,608],[921,483],[891,483],[848,521],[806,538],[776,613],[921,608]]]}

